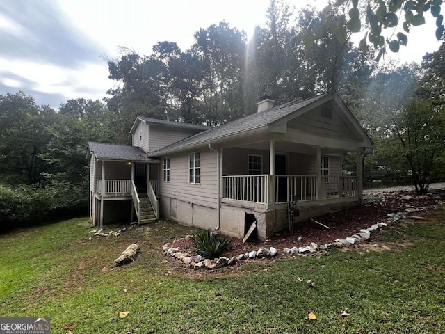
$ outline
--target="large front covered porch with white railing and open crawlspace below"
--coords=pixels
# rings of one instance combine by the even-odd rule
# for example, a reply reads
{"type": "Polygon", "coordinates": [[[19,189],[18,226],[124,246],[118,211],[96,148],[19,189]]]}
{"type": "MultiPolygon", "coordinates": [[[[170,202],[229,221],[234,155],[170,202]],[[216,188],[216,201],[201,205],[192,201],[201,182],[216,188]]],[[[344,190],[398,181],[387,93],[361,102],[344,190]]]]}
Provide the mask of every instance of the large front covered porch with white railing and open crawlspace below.
{"type": "Polygon", "coordinates": [[[245,223],[233,228],[233,216],[254,216],[259,238],[266,239],[299,221],[362,203],[364,148],[328,138],[316,146],[277,137],[220,147],[220,223],[227,234],[244,233],[245,223]],[[355,160],[357,176],[343,175],[346,157],[355,160]],[[290,201],[300,216],[289,217],[290,201]]]}

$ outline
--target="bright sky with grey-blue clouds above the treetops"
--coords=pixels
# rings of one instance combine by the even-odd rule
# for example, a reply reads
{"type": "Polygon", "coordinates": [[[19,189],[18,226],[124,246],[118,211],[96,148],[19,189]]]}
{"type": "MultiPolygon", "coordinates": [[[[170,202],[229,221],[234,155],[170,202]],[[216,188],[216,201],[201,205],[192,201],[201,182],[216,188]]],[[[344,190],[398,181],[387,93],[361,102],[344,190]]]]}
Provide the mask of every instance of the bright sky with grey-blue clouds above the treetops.
{"type": "MultiPolygon", "coordinates": [[[[323,8],[327,0],[288,0],[298,8],[323,8]]],[[[37,104],[58,108],[69,99],[102,99],[115,86],[107,60],[120,47],[151,54],[156,42],[182,51],[196,31],[225,21],[252,35],[264,26],[269,0],[1,0],[0,95],[22,90],[37,104]]],[[[429,19],[429,21],[428,21],[429,19]]],[[[293,22],[291,22],[292,24],[293,22]]],[[[362,38],[359,33],[353,40],[362,38]]],[[[396,58],[421,62],[440,42],[434,21],[413,27],[396,58]]],[[[388,57],[387,57],[388,58],[388,57]]],[[[387,61],[387,59],[385,60],[387,61]]]]}

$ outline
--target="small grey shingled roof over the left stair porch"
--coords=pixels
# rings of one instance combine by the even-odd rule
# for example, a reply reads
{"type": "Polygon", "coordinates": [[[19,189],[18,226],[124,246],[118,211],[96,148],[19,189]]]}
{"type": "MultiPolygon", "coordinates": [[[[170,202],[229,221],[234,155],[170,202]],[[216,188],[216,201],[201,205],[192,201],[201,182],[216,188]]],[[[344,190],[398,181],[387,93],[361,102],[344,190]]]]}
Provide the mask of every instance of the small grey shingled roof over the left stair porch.
{"type": "Polygon", "coordinates": [[[138,146],[116,145],[104,143],[88,143],[87,158],[95,154],[99,160],[117,161],[154,161],[147,156],[144,150],[138,146]]]}

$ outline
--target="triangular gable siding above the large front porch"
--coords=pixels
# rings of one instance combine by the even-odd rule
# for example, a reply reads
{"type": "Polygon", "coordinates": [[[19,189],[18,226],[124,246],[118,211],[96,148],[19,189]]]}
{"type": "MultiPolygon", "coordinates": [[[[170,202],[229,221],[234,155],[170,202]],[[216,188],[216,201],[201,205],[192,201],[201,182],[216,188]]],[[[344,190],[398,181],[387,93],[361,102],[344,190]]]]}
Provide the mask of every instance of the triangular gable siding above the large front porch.
{"type": "Polygon", "coordinates": [[[332,118],[323,116],[321,109],[315,109],[288,122],[292,129],[298,129],[325,137],[356,139],[349,127],[332,110],[332,118]]]}

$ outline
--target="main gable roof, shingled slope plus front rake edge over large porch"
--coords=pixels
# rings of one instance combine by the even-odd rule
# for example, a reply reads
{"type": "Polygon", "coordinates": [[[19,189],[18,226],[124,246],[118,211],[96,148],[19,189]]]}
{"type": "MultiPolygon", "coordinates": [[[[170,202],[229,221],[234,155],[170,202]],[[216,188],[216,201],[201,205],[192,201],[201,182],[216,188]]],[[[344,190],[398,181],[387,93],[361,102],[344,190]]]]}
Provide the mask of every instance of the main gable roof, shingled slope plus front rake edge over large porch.
{"type": "Polygon", "coordinates": [[[330,100],[334,100],[341,111],[343,111],[345,120],[348,121],[350,127],[353,127],[355,134],[358,134],[363,139],[366,146],[371,147],[373,144],[371,138],[369,138],[364,129],[359,125],[348,107],[343,103],[337,93],[330,92],[305,100],[296,100],[281,104],[280,106],[275,106],[273,109],[261,111],[260,113],[252,113],[252,115],[228,122],[220,127],[200,132],[199,134],[185,138],[182,141],[165,146],[165,148],[149,152],[148,155],[149,157],[159,157],[163,154],[170,154],[187,148],[195,148],[198,145],[218,143],[228,139],[255,134],[268,129],[270,130],[274,125],[296,118],[330,100]]]}

